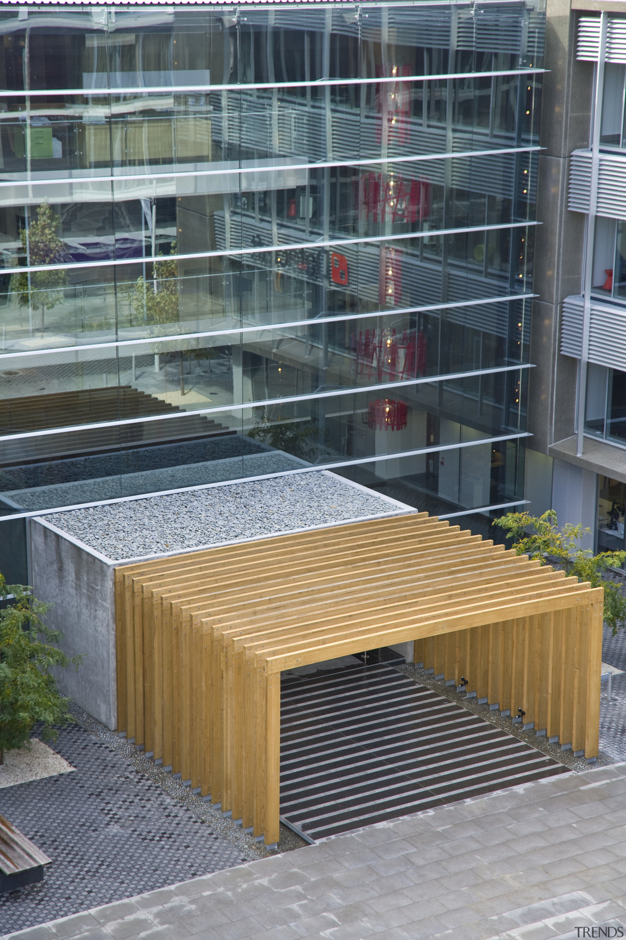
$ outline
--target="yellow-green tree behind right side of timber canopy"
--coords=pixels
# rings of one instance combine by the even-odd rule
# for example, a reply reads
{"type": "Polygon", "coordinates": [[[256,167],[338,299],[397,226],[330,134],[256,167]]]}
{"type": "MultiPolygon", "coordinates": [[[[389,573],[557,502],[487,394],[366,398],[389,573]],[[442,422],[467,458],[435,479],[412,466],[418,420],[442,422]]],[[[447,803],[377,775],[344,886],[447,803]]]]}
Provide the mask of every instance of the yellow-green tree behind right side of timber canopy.
{"type": "Polygon", "coordinates": [[[603,578],[609,568],[619,568],[626,561],[626,552],[601,552],[593,555],[590,549],[582,549],[580,540],[589,532],[582,525],[566,523],[558,527],[557,513],[548,509],[542,516],[531,516],[527,512],[507,512],[494,520],[507,531],[512,539],[515,555],[536,558],[542,565],[550,557],[556,558],[568,574],[579,581],[588,581],[591,587],[604,588],[603,616],[615,636],[618,624],[626,620],[626,598],[614,581],[603,578]],[[530,534],[528,534],[530,532],[530,534]]]}

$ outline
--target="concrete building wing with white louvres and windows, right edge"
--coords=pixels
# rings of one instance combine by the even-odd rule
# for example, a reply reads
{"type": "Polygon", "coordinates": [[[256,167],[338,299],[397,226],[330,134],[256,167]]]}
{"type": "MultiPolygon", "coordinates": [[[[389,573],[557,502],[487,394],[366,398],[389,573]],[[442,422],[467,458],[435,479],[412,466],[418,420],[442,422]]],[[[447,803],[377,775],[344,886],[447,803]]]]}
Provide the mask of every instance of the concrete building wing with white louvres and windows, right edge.
{"type": "Polygon", "coordinates": [[[529,400],[527,498],[588,527],[586,547],[623,549],[626,501],[626,6],[548,6],[529,400]],[[575,9],[574,9],[575,8],[575,9]],[[558,39],[557,39],[558,32],[558,39]],[[560,50],[552,59],[552,46],[560,50]],[[547,113],[547,112],[546,112],[547,113]],[[554,220],[558,219],[557,226],[554,220]],[[535,381],[537,380],[537,381],[535,381]],[[552,496],[550,493],[552,492],[552,496]]]}

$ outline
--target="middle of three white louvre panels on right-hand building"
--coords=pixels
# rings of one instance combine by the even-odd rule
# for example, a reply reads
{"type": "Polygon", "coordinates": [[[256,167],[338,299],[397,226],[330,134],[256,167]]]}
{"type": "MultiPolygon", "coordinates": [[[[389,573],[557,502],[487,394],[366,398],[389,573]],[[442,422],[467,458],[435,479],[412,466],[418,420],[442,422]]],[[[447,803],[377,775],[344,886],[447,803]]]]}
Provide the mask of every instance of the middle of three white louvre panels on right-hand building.
{"type": "MultiPolygon", "coordinates": [[[[588,212],[591,189],[591,152],[574,150],[570,164],[568,209],[588,212]]],[[[601,153],[598,168],[596,213],[610,219],[626,218],[626,154],[601,153]]]]}

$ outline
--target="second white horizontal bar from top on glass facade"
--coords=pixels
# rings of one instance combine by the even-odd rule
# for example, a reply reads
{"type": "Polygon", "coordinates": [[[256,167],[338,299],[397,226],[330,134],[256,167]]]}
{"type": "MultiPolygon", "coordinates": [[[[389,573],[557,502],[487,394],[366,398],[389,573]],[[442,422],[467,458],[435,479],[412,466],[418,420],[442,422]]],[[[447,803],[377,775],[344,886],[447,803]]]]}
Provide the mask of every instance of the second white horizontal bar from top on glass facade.
{"type": "MultiPolygon", "coordinates": [[[[527,147],[505,147],[501,149],[493,150],[459,150],[454,153],[427,153],[422,155],[410,154],[408,156],[388,156],[385,158],[376,157],[375,159],[355,158],[354,160],[330,160],[322,161],[319,163],[307,163],[307,164],[276,164],[276,165],[245,165],[245,166],[236,166],[236,167],[223,167],[220,169],[212,170],[173,170],[168,171],[167,173],[117,173],[115,176],[69,176],[69,177],[54,177],[51,180],[32,180],[24,179],[23,176],[20,176],[19,179],[15,180],[0,180],[0,188],[2,187],[14,187],[14,186],[53,186],[53,185],[62,185],[62,184],[72,184],[79,182],[126,182],[127,180],[170,180],[170,179],[194,179],[196,177],[223,177],[230,176],[234,174],[243,175],[243,174],[254,174],[254,173],[279,173],[279,172],[293,172],[295,170],[308,170],[308,169],[333,169],[336,167],[349,167],[349,166],[374,166],[374,165],[384,165],[384,164],[415,164],[415,163],[426,163],[432,162],[434,160],[456,160],[456,159],[474,159],[475,157],[497,157],[497,156],[508,156],[512,153],[531,153],[536,150],[540,150],[539,146],[527,147]]],[[[249,161],[249,163],[252,163],[249,161]]]]}

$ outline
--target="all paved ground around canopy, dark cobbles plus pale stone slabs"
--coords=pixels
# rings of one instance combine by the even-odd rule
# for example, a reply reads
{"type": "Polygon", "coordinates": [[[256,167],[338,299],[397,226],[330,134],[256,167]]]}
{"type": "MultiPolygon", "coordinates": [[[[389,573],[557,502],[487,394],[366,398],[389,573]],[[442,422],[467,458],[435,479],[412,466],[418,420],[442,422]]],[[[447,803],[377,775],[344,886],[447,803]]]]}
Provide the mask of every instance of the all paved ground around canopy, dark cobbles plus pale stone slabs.
{"type": "MultiPolygon", "coordinates": [[[[604,629],[603,660],[626,670],[623,632],[604,629]]],[[[55,745],[75,772],[1,791],[0,811],[54,860],[43,883],[0,896],[3,936],[543,940],[593,923],[626,933],[626,673],[610,702],[603,687],[601,707],[603,761],[618,762],[255,861],[230,821],[182,805],[130,745],[82,720],[55,745]]]]}

